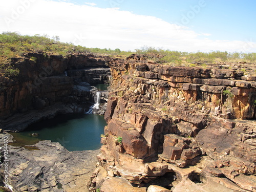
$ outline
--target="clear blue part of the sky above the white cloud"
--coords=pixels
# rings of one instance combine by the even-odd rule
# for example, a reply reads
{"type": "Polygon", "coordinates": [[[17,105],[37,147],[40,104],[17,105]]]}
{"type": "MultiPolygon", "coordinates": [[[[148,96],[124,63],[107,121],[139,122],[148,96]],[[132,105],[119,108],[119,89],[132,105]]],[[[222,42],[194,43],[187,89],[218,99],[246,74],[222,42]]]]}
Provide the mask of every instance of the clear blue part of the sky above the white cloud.
{"type": "MultiPolygon", "coordinates": [[[[155,16],[168,23],[182,24],[182,18],[186,17],[189,11],[193,11],[191,7],[195,8],[200,1],[71,0],[70,2],[80,5],[90,2],[100,8],[114,6],[119,10],[131,11],[135,14],[155,16]]],[[[204,0],[201,2],[205,6],[200,7],[199,13],[195,14],[193,19],[189,19],[187,27],[212,34],[212,38],[219,40],[256,38],[256,1],[204,0]]]]}

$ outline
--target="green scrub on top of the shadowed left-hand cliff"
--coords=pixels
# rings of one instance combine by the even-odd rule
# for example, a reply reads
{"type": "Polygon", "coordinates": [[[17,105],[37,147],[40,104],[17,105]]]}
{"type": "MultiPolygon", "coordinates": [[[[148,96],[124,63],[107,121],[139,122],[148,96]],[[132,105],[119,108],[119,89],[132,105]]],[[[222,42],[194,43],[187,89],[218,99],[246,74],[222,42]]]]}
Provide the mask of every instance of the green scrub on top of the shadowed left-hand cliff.
{"type": "MultiPolygon", "coordinates": [[[[0,76],[7,77],[18,75],[18,69],[11,64],[11,58],[23,58],[28,52],[43,52],[45,55],[69,56],[73,53],[100,53],[100,54],[130,54],[119,49],[99,49],[75,46],[72,43],[60,42],[58,36],[50,38],[48,35],[20,35],[16,32],[0,34],[0,76]]],[[[36,61],[36,58],[30,58],[36,61]]]]}

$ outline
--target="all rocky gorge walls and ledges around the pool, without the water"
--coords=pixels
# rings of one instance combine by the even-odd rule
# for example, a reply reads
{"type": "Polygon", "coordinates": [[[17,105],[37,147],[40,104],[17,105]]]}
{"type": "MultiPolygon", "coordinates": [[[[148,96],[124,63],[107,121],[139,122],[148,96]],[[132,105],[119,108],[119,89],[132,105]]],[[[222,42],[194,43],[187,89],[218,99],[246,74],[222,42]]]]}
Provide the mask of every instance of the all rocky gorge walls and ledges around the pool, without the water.
{"type": "Polygon", "coordinates": [[[101,98],[108,98],[108,125],[100,153],[68,152],[49,141],[35,151],[10,146],[15,190],[86,191],[85,173],[95,169],[97,155],[90,191],[256,191],[256,77],[239,67],[40,53],[13,63],[20,70],[16,81],[1,79],[0,123],[8,131],[87,112],[97,93],[90,84],[111,81],[101,98]]]}

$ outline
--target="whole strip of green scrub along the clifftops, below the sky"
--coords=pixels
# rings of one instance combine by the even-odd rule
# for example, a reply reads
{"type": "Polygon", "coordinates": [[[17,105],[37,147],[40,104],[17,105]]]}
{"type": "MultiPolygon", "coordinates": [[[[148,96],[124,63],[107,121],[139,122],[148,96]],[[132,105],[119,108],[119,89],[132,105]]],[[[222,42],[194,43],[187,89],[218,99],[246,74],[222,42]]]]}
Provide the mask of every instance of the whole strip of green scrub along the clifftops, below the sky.
{"type": "MultiPolygon", "coordinates": [[[[188,53],[147,46],[132,52],[121,51],[120,49],[111,50],[75,46],[72,43],[60,42],[58,36],[50,38],[48,35],[29,36],[15,32],[4,32],[0,34],[0,76],[1,74],[7,77],[16,76],[19,71],[11,65],[11,58],[23,58],[24,54],[28,52],[43,52],[45,55],[62,55],[63,57],[73,53],[91,52],[120,58],[125,58],[131,54],[144,54],[147,59],[158,63],[190,67],[205,67],[206,63],[214,65],[220,62],[246,62],[255,65],[256,62],[256,53],[228,53],[226,51],[188,53]]],[[[30,60],[36,61],[36,58],[30,58],[30,60]]]]}

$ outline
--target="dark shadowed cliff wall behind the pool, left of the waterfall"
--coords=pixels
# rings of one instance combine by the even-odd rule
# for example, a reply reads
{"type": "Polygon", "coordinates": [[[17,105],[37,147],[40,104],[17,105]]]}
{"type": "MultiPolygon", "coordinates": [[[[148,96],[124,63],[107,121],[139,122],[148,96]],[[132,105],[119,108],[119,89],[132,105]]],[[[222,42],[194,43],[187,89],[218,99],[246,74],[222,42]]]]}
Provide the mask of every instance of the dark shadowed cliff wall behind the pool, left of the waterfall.
{"type": "Polygon", "coordinates": [[[88,111],[97,92],[93,86],[110,79],[108,59],[91,53],[65,58],[27,53],[13,58],[12,65],[20,72],[11,79],[1,77],[1,128],[20,131],[56,114],[88,111]]]}

